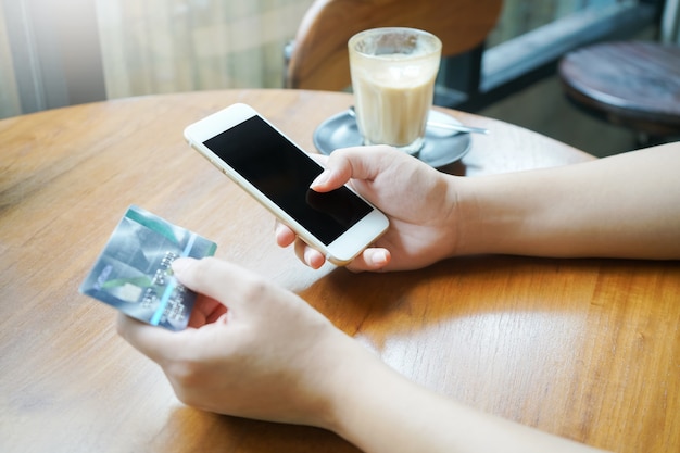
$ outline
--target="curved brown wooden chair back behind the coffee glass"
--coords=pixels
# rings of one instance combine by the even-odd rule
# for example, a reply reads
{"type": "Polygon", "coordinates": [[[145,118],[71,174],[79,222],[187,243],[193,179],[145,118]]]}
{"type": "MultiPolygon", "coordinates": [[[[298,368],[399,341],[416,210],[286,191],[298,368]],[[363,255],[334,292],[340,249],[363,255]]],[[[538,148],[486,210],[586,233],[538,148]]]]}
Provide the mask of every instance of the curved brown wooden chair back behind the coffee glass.
{"type": "Polygon", "coordinates": [[[442,56],[464,53],[495,26],[502,0],[316,0],[298,29],[287,64],[288,88],[350,86],[348,40],[377,27],[411,27],[442,41],[442,56]]]}

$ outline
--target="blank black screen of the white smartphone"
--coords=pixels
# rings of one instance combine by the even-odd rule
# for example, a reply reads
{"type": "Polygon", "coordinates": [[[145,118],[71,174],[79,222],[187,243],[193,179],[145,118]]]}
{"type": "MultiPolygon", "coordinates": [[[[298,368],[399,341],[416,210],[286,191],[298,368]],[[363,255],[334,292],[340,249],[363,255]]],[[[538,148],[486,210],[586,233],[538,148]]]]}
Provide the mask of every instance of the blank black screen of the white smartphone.
{"type": "Polygon", "coordinates": [[[257,115],[203,144],[326,246],[372,212],[347,187],[310,189],[323,168],[257,115]]]}

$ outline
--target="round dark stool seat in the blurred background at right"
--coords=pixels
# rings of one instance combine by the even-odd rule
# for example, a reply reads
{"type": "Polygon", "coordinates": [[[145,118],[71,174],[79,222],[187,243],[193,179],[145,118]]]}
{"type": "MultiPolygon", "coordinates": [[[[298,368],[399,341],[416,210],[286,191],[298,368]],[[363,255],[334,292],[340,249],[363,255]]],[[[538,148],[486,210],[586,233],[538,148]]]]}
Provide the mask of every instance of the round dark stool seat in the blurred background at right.
{"type": "Polygon", "coordinates": [[[680,47],[597,43],[565,55],[558,72],[571,101],[645,144],[680,138],[680,47]]]}

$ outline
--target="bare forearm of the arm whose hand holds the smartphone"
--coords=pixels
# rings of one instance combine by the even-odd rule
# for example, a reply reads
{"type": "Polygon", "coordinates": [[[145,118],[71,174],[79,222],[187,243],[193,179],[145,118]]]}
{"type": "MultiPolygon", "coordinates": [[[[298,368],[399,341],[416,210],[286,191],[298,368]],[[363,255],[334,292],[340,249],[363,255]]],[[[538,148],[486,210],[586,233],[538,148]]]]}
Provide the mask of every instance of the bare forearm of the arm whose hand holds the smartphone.
{"type": "Polygon", "coordinates": [[[680,142],[459,186],[456,254],[680,259],[680,142]]]}

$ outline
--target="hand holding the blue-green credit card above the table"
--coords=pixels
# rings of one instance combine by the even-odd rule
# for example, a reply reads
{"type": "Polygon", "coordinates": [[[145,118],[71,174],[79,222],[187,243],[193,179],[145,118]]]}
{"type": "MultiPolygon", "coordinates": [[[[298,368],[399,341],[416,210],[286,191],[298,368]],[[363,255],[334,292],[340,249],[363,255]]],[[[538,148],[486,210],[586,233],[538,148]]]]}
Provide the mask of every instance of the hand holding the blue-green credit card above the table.
{"type": "Polygon", "coordinates": [[[173,267],[199,293],[190,327],[173,332],[125,315],[117,327],[163,368],[179,400],[222,414],[328,426],[329,400],[343,389],[336,372],[363,348],[302,299],[236,265],[184,259],[173,267]]]}

